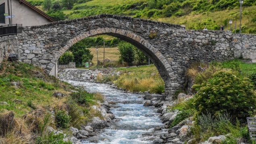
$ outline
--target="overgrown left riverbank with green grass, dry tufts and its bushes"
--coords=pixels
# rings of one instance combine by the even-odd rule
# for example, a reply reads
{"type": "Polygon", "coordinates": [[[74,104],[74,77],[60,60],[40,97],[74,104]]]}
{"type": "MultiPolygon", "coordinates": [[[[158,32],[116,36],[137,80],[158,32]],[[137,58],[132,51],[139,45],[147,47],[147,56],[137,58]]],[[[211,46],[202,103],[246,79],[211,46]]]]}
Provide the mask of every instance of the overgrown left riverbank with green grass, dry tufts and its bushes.
{"type": "Polygon", "coordinates": [[[102,118],[90,107],[99,105],[98,101],[103,102],[102,95],[83,90],[81,97],[90,95],[85,107],[71,97],[74,95],[71,90],[79,91],[48,76],[40,68],[3,62],[0,71],[0,143],[70,144],[63,141],[64,135],[49,133],[48,127],[68,132],[70,126],[79,128],[92,117],[102,118]],[[55,97],[55,93],[64,96],[55,97]]]}

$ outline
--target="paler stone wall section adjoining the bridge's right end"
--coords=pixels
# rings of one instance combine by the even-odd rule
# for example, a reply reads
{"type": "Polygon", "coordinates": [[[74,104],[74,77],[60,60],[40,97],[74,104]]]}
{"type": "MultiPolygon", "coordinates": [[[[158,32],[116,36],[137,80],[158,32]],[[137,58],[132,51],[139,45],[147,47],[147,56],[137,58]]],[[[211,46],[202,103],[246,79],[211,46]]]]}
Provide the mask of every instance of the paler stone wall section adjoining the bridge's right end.
{"type": "Polygon", "coordinates": [[[233,35],[234,57],[256,62],[256,35],[233,35]]]}

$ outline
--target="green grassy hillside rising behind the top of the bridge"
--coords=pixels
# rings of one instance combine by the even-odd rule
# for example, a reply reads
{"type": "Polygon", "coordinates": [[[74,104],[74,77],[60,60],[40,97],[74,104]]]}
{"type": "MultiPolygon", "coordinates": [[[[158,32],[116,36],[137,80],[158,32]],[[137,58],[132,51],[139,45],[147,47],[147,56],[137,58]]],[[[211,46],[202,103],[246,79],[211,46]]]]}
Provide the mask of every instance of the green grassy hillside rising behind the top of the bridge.
{"type": "MultiPolygon", "coordinates": [[[[51,2],[51,0],[46,0],[51,2]]],[[[45,10],[44,0],[29,0],[45,10]]],[[[219,30],[224,25],[230,29],[229,19],[239,28],[239,1],[234,0],[53,0],[50,16],[56,19],[75,19],[96,14],[109,13],[135,18],[152,19],[185,25],[187,29],[219,30]]],[[[244,0],[242,33],[256,33],[256,2],[244,0]]],[[[233,30],[234,32],[234,30],[233,30]]]]}

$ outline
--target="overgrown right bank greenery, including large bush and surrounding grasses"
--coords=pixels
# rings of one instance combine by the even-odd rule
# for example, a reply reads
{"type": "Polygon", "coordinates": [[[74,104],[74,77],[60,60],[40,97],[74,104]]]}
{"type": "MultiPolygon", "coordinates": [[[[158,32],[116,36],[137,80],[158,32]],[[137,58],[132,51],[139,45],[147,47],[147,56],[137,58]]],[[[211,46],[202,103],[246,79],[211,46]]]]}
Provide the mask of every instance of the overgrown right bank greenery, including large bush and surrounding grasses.
{"type": "Polygon", "coordinates": [[[253,143],[245,119],[256,115],[255,72],[255,64],[242,60],[192,65],[187,77],[194,80],[196,94],[170,107],[179,110],[170,127],[193,116],[193,143],[219,135],[226,135],[223,144],[253,143]]]}

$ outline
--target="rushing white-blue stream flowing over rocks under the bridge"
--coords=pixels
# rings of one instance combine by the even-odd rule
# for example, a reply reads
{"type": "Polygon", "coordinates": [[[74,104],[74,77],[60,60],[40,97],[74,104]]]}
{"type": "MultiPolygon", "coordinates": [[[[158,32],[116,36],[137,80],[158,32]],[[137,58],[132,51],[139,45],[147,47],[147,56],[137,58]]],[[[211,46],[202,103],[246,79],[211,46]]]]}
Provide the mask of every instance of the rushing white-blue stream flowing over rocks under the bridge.
{"type": "MultiPolygon", "coordinates": [[[[81,82],[68,80],[75,86],[83,86],[88,92],[102,93],[107,101],[117,104],[112,105],[110,111],[117,120],[104,129],[98,137],[100,144],[150,144],[159,134],[167,133],[166,130],[155,132],[155,127],[162,127],[159,113],[153,107],[143,106],[143,95],[125,93],[112,88],[108,84],[81,82]]],[[[84,144],[89,144],[83,141],[84,144]]]]}

